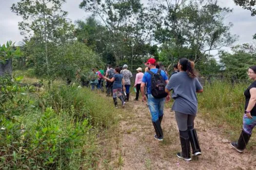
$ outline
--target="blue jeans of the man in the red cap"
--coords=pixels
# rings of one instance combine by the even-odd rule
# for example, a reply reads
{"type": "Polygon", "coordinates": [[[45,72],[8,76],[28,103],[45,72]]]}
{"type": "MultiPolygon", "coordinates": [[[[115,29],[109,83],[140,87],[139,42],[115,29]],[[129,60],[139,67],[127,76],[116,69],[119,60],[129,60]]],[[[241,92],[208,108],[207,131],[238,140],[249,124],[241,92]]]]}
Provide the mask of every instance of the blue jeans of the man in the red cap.
{"type": "Polygon", "coordinates": [[[165,98],[156,99],[152,94],[148,94],[148,107],[151,113],[152,121],[158,121],[158,118],[163,116],[165,98]]]}

